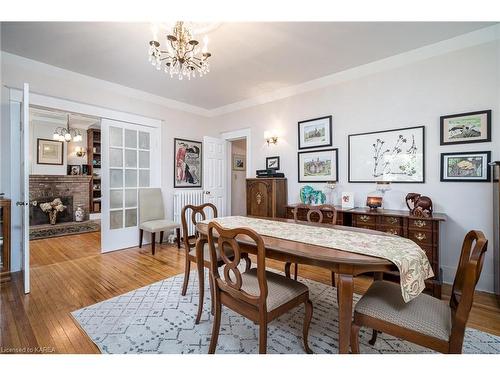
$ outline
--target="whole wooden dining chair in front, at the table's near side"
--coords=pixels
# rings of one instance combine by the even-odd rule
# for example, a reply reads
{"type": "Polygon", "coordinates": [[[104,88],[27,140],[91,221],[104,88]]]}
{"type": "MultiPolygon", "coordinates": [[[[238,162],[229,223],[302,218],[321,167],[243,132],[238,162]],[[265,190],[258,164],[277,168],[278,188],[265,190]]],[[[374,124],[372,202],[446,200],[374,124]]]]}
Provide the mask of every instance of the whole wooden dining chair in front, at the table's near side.
{"type": "Polygon", "coordinates": [[[259,353],[267,351],[267,325],[272,320],[304,304],[304,349],[312,353],[308,345],[309,326],[313,305],[306,285],[285,276],[266,271],[266,249],[262,237],[250,228],[224,229],[218,223],[208,225],[210,245],[210,277],[214,286],[215,316],[208,352],[213,354],[219,337],[222,305],[243,315],[259,325],[259,353]],[[215,238],[214,231],[217,232],[215,238]],[[241,248],[238,239],[257,246],[257,268],[240,272],[241,248]],[[217,241],[217,242],[216,242],[217,241]],[[219,274],[216,260],[219,254],[224,262],[223,275],[219,274]],[[228,255],[233,255],[230,259],[228,255]]]}

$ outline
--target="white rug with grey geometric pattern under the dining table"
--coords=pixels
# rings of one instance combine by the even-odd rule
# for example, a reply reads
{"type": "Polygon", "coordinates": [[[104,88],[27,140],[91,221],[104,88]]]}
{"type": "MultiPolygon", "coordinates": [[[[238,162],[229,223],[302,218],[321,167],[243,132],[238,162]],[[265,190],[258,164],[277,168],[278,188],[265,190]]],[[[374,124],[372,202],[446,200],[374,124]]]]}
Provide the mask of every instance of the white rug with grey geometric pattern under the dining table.
{"type": "MultiPolygon", "coordinates": [[[[207,272],[205,272],[207,274],[207,272]]],[[[210,292],[205,282],[202,321],[194,323],[198,279],[191,273],[186,296],[181,296],[183,275],[177,275],[72,313],[102,353],[207,353],[211,337],[210,292]]],[[[309,346],[314,353],[338,353],[337,292],[331,286],[301,279],[310,290],[314,314],[309,346]]],[[[355,300],[359,295],[355,295],[355,300]]],[[[268,353],[302,354],[303,307],[268,325],[268,353]]],[[[420,346],[379,335],[368,344],[371,331],[362,329],[361,353],[433,353],[420,346]]],[[[467,329],[464,353],[500,353],[500,337],[467,329]]],[[[258,353],[258,326],[222,308],[216,353],[258,353]]]]}

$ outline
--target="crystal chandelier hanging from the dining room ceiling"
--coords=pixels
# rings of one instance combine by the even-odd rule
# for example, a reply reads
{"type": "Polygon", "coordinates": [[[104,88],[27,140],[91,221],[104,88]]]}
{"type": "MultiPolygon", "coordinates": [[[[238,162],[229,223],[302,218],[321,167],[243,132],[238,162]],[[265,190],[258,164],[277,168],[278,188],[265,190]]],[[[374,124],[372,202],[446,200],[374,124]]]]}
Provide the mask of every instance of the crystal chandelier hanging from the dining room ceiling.
{"type": "Polygon", "coordinates": [[[208,58],[212,56],[207,51],[208,37],[203,38],[203,48],[192,37],[192,32],[184,22],[176,22],[172,33],[167,35],[166,50],[160,50],[160,42],[149,42],[149,61],[157,70],[163,70],[170,77],[177,76],[180,80],[201,77],[210,71],[208,58]]]}

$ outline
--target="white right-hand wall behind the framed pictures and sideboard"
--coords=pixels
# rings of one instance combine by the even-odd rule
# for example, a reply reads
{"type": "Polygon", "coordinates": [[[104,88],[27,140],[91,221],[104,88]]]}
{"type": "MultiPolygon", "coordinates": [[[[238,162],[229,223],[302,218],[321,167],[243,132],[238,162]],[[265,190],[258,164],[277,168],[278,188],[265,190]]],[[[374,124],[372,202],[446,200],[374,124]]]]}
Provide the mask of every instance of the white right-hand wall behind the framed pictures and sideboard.
{"type": "MultiPolygon", "coordinates": [[[[333,147],[339,148],[339,187],[355,192],[355,203],[364,206],[374,184],[347,182],[347,135],[359,132],[426,127],[426,183],[393,184],[386,195],[386,208],[406,209],[408,192],[429,195],[438,212],[448,215],[442,226],[441,266],[444,279],[452,281],[465,233],[480,229],[493,239],[492,185],[488,183],[442,183],[440,153],[491,150],[500,158],[500,46],[498,41],[432,57],[410,65],[353,78],[323,89],[239,110],[212,119],[211,127],[225,132],[252,130],[253,168],[263,169],[266,156],[279,155],[281,170],[288,177],[288,201],[299,201],[297,183],[297,122],[333,115],[333,147]],[[474,110],[493,110],[493,141],[470,145],[440,146],[439,117],[474,110]],[[267,146],[265,130],[277,129],[279,141],[267,146]]],[[[316,184],[321,188],[322,184],[316,184]]],[[[493,290],[492,251],[488,251],[479,289],[493,290]]]]}

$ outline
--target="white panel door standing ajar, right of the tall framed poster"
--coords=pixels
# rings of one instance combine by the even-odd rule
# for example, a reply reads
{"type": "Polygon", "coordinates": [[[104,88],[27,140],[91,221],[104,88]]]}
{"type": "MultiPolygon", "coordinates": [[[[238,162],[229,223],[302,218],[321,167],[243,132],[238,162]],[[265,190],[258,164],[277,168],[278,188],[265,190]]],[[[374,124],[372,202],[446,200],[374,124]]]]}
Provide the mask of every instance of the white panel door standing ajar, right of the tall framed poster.
{"type": "Polygon", "coordinates": [[[219,216],[226,212],[227,141],[203,137],[203,190],[205,203],[217,207],[219,216]]]}

